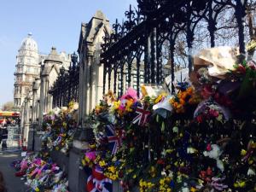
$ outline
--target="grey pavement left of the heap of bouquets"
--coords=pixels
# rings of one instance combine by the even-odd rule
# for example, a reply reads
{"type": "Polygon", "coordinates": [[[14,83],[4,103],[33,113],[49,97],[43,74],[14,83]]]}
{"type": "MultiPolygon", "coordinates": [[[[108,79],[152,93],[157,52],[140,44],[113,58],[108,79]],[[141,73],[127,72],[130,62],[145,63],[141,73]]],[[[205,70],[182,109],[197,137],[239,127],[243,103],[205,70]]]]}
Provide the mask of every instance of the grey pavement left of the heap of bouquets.
{"type": "Polygon", "coordinates": [[[20,180],[20,177],[15,177],[15,169],[10,166],[13,160],[20,159],[20,151],[15,150],[0,150],[0,171],[3,172],[3,177],[6,183],[8,192],[25,192],[26,186],[20,180]]]}

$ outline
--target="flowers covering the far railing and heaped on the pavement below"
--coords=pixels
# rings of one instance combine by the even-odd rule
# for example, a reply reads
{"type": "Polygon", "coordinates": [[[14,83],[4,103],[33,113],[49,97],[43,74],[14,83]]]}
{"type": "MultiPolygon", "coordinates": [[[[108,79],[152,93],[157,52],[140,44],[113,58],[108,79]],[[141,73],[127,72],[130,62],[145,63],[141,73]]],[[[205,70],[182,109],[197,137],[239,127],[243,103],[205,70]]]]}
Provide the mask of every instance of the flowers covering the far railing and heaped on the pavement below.
{"type": "Polygon", "coordinates": [[[78,103],[70,102],[67,108],[55,108],[44,114],[42,150],[13,162],[15,175],[26,180],[27,191],[68,192],[67,173],[52,162],[49,154],[53,150],[68,154],[77,127],[77,113],[78,103]]]}

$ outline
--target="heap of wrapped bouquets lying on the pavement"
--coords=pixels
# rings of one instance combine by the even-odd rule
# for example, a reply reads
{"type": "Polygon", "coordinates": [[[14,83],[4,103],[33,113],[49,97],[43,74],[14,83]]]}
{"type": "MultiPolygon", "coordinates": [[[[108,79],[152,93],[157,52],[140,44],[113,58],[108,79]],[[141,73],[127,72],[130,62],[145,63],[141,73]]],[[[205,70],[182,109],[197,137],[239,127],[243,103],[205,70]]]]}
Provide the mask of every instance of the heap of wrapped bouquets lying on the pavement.
{"type": "Polygon", "coordinates": [[[51,161],[49,154],[26,154],[12,163],[15,176],[26,180],[27,191],[68,192],[67,175],[51,161]]]}

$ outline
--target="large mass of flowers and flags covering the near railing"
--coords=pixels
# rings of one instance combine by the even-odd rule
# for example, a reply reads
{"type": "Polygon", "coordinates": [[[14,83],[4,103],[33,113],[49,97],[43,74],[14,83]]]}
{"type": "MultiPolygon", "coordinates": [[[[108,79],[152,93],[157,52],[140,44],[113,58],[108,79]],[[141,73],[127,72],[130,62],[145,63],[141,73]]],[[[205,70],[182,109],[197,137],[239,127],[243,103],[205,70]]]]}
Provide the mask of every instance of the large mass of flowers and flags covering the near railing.
{"type": "Polygon", "coordinates": [[[173,96],[150,85],[109,91],[88,119],[87,190],[116,181],[124,191],[255,191],[256,66],[237,63],[222,79],[195,71],[173,96]]]}

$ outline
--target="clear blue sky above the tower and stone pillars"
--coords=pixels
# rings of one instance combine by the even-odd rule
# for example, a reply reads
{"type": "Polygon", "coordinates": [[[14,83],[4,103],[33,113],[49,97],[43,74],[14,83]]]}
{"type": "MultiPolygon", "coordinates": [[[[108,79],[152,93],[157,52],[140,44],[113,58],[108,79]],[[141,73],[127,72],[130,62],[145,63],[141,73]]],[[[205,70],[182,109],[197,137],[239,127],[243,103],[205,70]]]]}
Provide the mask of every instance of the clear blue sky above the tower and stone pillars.
{"type": "Polygon", "coordinates": [[[101,9],[111,23],[124,18],[137,0],[5,0],[0,3],[0,106],[13,101],[15,56],[23,38],[32,32],[38,49],[49,53],[77,50],[81,22],[101,9]]]}

